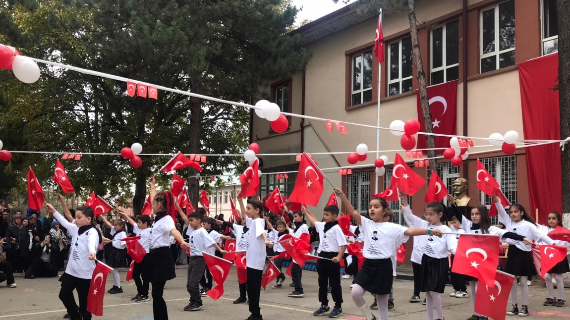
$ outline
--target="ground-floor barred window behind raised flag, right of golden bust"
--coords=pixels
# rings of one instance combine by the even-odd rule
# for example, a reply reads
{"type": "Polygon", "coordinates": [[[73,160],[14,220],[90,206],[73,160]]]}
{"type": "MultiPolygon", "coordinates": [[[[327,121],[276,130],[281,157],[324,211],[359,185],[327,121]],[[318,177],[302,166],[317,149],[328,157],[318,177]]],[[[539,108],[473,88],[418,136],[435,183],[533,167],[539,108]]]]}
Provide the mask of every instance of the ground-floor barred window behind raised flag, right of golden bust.
{"type": "MultiPolygon", "coordinates": [[[[500,190],[511,203],[517,202],[516,191],[516,156],[481,159],[481,163],[499,183],[500,190]]],[[[492,198],[479,191],[479,203],[491,207],[492,198]]],[[[491,217],[491,223],[497,224],[497,217],[491,217]]]]}

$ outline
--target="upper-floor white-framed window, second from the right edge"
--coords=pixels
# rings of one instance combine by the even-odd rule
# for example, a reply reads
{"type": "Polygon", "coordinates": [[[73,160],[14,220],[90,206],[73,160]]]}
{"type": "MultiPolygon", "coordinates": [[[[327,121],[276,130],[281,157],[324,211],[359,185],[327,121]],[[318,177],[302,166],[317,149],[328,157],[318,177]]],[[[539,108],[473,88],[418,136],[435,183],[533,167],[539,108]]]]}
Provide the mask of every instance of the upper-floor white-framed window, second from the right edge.
{"type": "Polygon", "coordinates": [[[481,73],[515,64],[515,0],[481,11],[481,73]]]}

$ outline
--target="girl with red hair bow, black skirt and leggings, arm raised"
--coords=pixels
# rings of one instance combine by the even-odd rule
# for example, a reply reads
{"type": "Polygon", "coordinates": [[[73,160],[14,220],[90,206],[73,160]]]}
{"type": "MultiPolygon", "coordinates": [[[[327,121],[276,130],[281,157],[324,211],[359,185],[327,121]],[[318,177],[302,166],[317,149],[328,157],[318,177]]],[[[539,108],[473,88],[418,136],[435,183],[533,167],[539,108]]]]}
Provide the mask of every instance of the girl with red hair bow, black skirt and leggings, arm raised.
{"type": "Polygon", "coordinates": [[[148,257],[149,282],[152,284],[152,313],[154,320],[168,320],[168,309],[162,294],[166,281],[176,278],[174,259],[170,253],[170,235],[185,249],[190,249],[190,245],[184,241],[174,225],[176,208],[172,193],[164,191],[157,194],[154,177],[150,177],[148,183],[154,212],[154,222],[149,232],[148,257]]]}

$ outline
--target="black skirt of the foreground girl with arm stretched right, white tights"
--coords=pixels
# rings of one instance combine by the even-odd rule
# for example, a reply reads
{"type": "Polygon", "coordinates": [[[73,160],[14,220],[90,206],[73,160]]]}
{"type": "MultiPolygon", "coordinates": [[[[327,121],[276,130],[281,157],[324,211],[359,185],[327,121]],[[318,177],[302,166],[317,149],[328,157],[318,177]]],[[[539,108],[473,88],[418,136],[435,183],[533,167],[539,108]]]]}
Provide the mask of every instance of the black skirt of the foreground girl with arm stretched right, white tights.
{"type": "Polygon", "coordinates": [[[392,260],[366,259],[352,283],[373,294],[390,294],[393,274],[392,260]]]}

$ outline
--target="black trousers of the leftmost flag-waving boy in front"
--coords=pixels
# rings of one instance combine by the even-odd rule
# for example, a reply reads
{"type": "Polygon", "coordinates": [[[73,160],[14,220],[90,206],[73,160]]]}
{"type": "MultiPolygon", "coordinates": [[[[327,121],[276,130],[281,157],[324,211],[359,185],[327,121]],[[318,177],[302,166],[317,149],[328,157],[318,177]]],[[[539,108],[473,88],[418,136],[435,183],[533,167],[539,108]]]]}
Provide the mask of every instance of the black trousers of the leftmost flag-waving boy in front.
{"type": "Polygon", "coordinates": [[[87,296],[91,279],[82,279],[64,273],[60,281],[62,282],[62,288],[59,290],[59,300],[63,302],[71,319],[82,319],[82,316],[83,319],[91,319],[91,313],[87,312],[87,296]],[[79,311],[73,296],[74,290],[77,291],[79,311]]]}

